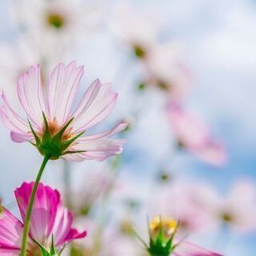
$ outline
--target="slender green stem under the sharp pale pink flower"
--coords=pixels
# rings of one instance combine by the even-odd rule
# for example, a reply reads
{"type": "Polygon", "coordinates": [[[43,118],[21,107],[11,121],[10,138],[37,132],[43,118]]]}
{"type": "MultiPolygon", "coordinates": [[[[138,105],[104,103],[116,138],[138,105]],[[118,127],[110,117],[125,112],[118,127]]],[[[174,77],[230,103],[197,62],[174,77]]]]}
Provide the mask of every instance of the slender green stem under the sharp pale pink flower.
{"type": "Polygon", "coordinates": [[[20,254],[21,256],[26,256],[26,240],[27,240],[27,237],[28,237],[28,234],[30,231],[30,218],[31,218],[32,209],[33,209],[33,205],[34,205],[34,198],[35,198],[35,195],[37,194],[38,185],[41,180],[43,170],[45,170],[46,163],[49,161],[49,159],[50,159],[50,157],[48,155],[46,155],[43,158],[42,165],[38,171],[38,176],[34,182],[33,190],[30,195],[30,202],[29,202],[29,205],[26,210],[26,219],[25,219],[25,225],[24,225],[24,230],[23,230],[22,250],[21,250],[21,254],[20,254]]]}

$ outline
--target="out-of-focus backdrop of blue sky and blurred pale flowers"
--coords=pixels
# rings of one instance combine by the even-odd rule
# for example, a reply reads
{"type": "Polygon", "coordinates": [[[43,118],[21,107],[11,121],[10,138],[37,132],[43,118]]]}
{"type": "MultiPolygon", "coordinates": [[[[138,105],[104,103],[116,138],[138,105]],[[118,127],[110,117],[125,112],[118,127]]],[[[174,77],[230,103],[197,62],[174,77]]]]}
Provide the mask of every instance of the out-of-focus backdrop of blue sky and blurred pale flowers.
{"type": "MultiPolygon", "coordinates": [[[[41,64],[46,82],[58,62],[76,59],[82,84],[99,77],[118,92],[114,114],[92,132],[123,116],[130,123],[118,158],[46,171],[44,182],[88,230],[66,255],[142,256],[134,230],[146,238],[146,218],[158,214],[179,220],[195,244],[254,254],[254,1],[4,0],[0,14],[8,98],[18,102],[18,77],[31,65],[41,64]]],[[[40,157],[0,131],[0,196],[15,213],[12,191],[34,178],[40,157]]]]}

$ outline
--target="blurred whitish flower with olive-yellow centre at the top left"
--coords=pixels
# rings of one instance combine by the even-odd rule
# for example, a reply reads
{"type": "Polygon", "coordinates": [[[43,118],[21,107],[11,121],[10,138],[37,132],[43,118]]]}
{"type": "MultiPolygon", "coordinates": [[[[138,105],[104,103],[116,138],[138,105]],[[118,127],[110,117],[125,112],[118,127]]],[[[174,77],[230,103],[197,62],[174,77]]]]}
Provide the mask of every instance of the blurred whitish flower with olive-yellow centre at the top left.
{"type": "Polygon", "coordinates": [[[62,58],[85,42],[96,30],[102,10],[97,3],[81,0],[21,0],[14,2],[14,19],[27,40],[33,42],[46,61],[62,58]],[[61,42],[61,43],[60,43],[61,42]],[[56,58],[55,58],[56,59],[56,58]]]}

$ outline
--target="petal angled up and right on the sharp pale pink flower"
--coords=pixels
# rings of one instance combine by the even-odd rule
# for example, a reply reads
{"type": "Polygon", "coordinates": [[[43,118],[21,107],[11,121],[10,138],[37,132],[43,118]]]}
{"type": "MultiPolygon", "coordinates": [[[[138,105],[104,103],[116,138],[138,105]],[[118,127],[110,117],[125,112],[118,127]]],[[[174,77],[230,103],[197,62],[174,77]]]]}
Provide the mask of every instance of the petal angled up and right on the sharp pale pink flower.
{"type": "Polygon", "coordinates": [[[113,110],[117,97],[118,94],[110,90],[110,84],[93,82],[74,112],[73,132],[87,130],[105,119],[113,110]]]}

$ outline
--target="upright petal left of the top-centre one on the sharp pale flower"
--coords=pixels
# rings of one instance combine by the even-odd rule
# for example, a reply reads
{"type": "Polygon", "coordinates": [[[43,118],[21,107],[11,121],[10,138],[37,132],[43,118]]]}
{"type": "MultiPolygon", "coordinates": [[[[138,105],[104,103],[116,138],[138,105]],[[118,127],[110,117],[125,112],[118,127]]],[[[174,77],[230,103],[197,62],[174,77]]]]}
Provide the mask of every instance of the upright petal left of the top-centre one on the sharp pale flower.
{"type": "Polygon", "coordinates": [[[18,81],[18,98],[28,118],[37,128],[42,128],[42,112],[46,112],[42,93],[40,65],[31,66],[18,81]]]}

